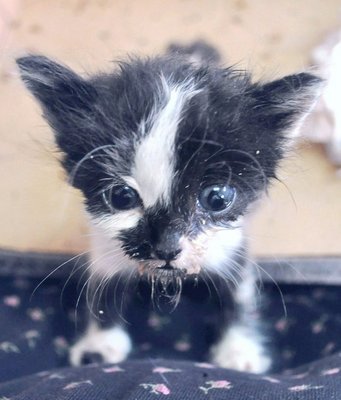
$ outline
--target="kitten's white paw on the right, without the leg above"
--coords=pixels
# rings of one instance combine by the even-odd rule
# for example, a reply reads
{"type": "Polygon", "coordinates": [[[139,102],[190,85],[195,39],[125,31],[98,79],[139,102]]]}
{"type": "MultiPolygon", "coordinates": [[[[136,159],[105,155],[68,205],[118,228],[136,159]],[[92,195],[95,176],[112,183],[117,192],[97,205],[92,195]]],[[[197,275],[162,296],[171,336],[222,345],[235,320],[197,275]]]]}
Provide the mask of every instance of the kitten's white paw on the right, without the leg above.
{"type": "Polygon", "coordinates": [[[251,329],[233,326],[212,348],[212,361],[222,368],[261,374],[271,365],[260,337],[251,329]]]}

